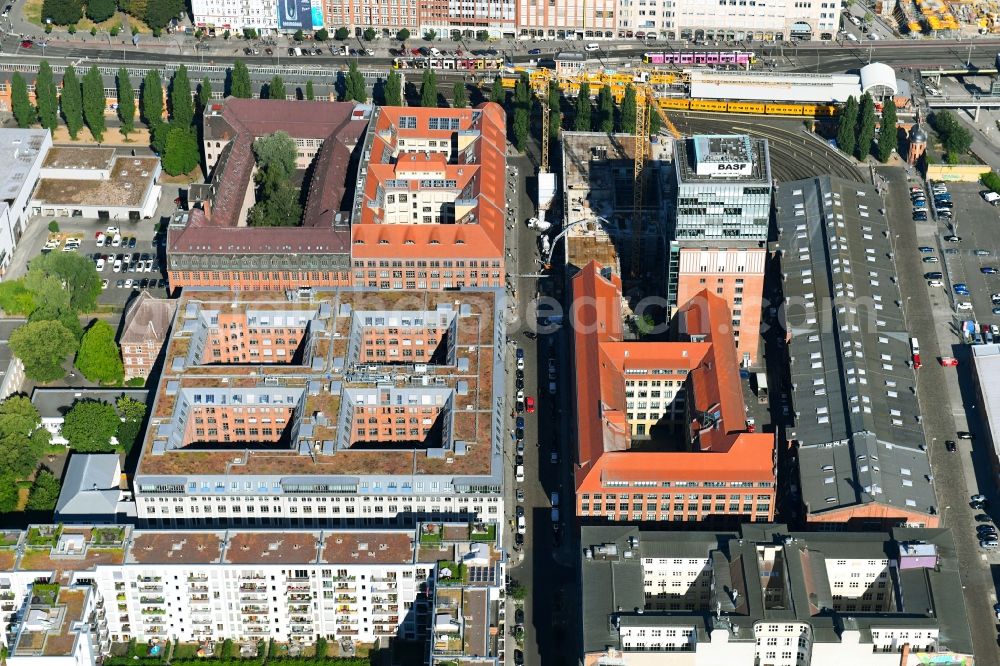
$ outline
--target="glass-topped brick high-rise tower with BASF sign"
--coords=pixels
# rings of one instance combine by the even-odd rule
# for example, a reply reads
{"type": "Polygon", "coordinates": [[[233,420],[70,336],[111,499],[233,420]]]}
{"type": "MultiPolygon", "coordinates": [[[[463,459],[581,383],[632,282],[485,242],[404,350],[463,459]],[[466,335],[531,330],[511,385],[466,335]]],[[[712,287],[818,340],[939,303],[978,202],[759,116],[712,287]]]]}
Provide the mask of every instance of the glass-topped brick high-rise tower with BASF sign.
{"type": "Polygon", "coordinates": [[[740,363],[754,364],[771,214],[767,140],[740,135],[677,141],[674,168],[668,302],[682,306],[703,289],[724,298],[740,363]]]}

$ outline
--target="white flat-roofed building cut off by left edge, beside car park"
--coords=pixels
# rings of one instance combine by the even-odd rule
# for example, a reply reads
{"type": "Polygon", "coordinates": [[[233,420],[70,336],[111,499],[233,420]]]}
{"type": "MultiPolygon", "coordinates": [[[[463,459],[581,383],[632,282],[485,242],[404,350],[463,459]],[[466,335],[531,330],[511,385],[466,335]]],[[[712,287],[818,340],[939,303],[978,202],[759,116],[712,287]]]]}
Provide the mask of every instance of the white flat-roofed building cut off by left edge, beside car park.
{"type": "Polygon", "coordinates": [[[28,226],[28,200],[52,147],[48,130],[0,129],[0,276],[28,226]]]}

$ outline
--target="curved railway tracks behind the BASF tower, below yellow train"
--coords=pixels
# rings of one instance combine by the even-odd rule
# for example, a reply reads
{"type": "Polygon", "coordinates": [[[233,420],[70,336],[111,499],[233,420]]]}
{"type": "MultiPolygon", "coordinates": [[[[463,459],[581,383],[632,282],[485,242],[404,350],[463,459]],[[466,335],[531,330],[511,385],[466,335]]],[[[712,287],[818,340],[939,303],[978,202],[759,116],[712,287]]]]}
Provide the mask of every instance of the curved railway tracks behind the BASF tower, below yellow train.
{"type": "Polygon", "coordinates": [[[671,111],[668,115],[684,134],[739,132],[767,139],[771,176],[779,182],[825,175],[855,182],[864,180],[862,170],[835,148],[807,136],[801,122],[782,126],[769,118],[770,124],[761,124],[758,117],[734,118],[732,114],[695,111],[671,111]]]}

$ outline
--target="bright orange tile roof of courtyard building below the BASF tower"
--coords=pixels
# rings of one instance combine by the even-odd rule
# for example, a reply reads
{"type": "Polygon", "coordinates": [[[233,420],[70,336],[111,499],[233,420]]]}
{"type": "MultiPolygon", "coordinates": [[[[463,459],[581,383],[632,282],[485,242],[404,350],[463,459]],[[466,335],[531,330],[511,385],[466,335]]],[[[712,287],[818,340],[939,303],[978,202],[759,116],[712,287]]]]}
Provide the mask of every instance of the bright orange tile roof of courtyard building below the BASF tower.
{"type": "MultiPolygon", "coordinates": [[[[707,291],[681,309],[684,342],[624,342],[621,281],[590,262],[573,278],[578,490],[605,481],[774,480],[774,437],[746,432],[729,310],[707,291]],[[703,337],[700,337],[703,336],[703,337]],[[696,413],[716,412],[717,427],[698,433],[702,451],[629,451],[628,369],[687,371],[696,413]]],[[[701,425],[707,425],[699,422],[701,425]]]]}

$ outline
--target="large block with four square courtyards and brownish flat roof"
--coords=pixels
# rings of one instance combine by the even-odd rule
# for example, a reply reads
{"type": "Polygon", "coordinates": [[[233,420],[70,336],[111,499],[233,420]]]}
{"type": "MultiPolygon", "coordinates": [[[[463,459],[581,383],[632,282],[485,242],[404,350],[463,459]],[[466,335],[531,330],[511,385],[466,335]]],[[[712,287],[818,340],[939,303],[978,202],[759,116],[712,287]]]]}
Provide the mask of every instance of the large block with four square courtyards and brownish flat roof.
{"type": "Polygon", "coordinates": [[[139,521],[501,521],[503,310],[499,289],[184,290],[139,521]]]}

